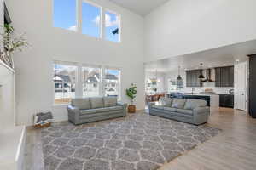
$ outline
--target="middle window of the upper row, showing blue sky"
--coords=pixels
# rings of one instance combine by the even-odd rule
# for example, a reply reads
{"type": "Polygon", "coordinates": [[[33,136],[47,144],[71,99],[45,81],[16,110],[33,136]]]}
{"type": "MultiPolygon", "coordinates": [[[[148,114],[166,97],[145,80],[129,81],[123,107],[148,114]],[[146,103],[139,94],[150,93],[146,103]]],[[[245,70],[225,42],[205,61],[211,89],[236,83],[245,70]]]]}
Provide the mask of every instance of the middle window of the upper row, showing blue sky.
{"type": "Polygon", "coordinates": [[[101,35],[102,9],[90,3],[82,3],[82,33],[92,37],[101,35]]]}

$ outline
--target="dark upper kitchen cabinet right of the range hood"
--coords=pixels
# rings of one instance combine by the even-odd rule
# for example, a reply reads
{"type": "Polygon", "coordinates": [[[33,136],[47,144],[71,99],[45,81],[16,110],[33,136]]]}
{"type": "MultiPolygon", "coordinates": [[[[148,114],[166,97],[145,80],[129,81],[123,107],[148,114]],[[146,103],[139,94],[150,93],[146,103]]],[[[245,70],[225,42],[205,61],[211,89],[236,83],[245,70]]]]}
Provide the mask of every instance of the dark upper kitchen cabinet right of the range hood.
{"type": "Polygon", "coordinates": [[[215,68],[216,87],[234,87],[234,66],[215,68]]]}

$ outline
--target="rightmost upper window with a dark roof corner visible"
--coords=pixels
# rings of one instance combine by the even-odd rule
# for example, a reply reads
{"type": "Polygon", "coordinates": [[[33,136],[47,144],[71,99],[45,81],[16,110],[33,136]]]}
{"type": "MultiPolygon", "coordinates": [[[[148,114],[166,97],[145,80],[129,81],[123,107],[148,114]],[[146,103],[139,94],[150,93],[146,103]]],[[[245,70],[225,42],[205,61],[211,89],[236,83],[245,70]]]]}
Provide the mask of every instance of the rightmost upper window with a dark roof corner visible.
{"type": "Polygon", "coordinates": [[[106,11],[105,38],[111,42],[120,42],[119,15],[106,11]]]}

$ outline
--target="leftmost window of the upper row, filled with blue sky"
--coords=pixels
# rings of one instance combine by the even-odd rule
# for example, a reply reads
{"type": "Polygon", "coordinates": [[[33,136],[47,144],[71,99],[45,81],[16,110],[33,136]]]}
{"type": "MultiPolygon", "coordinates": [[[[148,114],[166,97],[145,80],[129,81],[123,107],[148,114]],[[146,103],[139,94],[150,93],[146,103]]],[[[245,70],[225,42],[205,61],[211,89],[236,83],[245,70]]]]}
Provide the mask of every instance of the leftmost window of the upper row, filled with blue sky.
{"type": "Polygon", "coordinates": [[[54,26],[77,31],[76,0],[54,0],[54,26]]]}

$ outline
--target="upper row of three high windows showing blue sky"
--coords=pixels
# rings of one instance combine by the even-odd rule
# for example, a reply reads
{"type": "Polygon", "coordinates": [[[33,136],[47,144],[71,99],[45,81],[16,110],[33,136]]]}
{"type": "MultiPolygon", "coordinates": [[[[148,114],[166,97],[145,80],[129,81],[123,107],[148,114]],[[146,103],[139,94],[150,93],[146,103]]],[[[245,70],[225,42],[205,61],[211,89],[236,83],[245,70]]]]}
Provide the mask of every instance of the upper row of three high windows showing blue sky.
{"type": "Polygon", "coordinates": [[[120,42],[120,14],[88,0],[53,0],[54,27],[120,42]],[[105,20],[102,20],[102,14],[105,20]],[[104,37],[102,37],[104,35],[104,37]]]}

